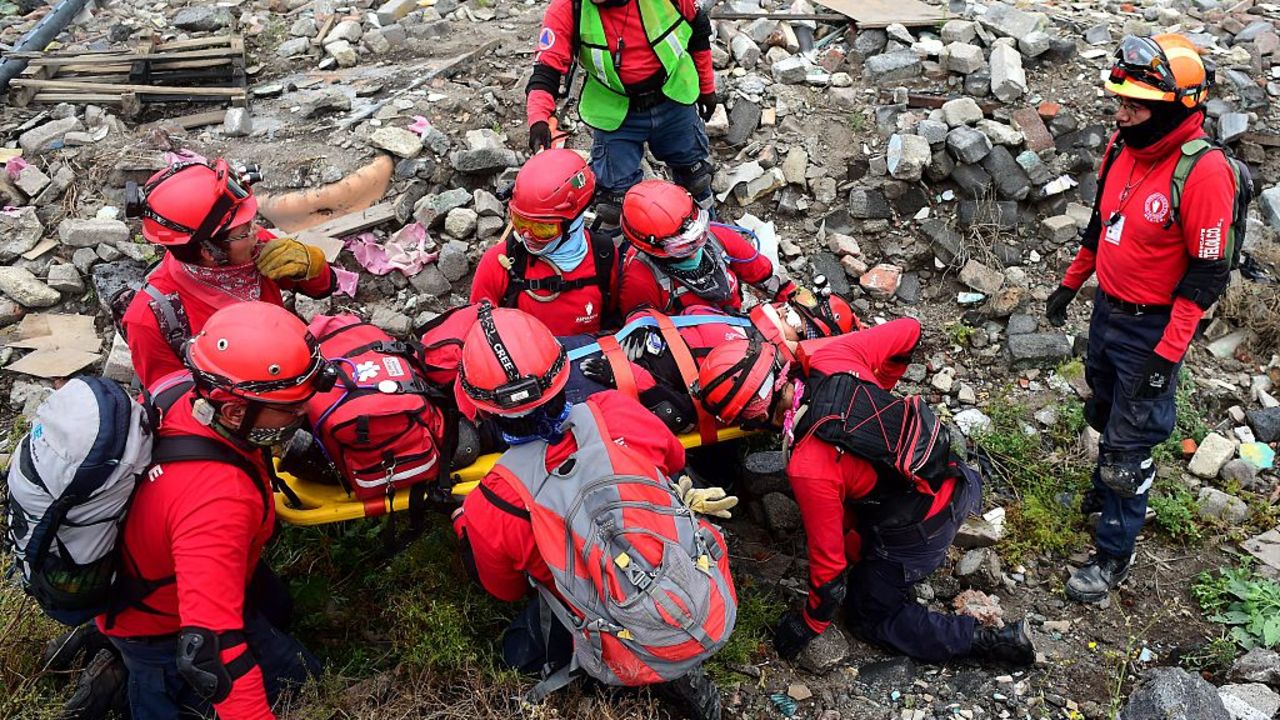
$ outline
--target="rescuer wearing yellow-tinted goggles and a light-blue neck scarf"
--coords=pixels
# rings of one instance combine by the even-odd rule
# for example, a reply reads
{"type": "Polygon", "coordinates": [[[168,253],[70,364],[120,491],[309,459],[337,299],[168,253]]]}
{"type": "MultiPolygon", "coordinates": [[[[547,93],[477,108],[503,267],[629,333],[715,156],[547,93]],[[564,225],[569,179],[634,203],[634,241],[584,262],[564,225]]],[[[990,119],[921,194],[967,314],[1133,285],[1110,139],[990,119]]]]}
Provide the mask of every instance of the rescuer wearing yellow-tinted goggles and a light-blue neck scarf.
{"type": "Polygon", "coordinates": [[[471,302],[518,307],[559,336],[595,333],[616,302],[618,258],[585,227],[595,174],[564,149],[539,152],[516,176],[511,238],[485,251],[471,302]]]}

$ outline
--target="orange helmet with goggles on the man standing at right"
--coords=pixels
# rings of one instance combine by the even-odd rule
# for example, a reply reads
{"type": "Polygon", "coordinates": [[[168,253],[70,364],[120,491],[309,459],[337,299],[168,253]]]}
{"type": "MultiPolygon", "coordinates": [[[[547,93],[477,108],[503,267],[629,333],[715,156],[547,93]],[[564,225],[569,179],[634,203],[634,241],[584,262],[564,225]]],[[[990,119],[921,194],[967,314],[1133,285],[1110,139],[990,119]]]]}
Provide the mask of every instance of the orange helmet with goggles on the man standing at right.
{"type": "Polygon", "coordinates": [[[1181,102],[1196,108],[1213,86],[1212,68],[1181,35],[1125,36],[1105,85],[1107,92],[1134,100],[1181,102]]]}

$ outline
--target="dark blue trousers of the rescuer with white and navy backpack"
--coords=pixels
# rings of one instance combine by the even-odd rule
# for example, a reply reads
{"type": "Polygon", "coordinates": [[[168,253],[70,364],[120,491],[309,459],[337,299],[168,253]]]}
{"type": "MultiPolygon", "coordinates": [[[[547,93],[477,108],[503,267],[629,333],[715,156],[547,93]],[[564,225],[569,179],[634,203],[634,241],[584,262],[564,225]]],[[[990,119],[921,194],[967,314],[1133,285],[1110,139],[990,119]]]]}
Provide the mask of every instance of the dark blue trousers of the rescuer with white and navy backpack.
{"type": "MultiPolygon", "coordinates": [[[[244,618],[244,637],[257,659],[274,703],[287,685],[301,685],[320,675],[320,661],[298,641],[251,611],[244,618]]],[[[178,673],[177,638],[111,638],[129,670],[129,711],[133,720],[211,717],[210,702],[200,697],[178,673]]]]}

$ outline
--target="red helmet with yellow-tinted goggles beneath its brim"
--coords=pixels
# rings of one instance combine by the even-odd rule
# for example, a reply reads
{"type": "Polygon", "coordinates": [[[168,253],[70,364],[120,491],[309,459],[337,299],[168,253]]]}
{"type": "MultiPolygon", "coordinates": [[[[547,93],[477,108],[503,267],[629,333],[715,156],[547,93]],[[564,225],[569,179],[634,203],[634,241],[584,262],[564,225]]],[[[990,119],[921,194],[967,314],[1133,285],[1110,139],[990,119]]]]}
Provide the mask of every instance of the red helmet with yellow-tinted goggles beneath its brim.
{"type": "Polygon", "coordinates": [[[564,236],[595,196],[595,173],[581,155],[552,147],[520,168],[511,191],[511,225],[530,252],[539,254],[564,236]]]}

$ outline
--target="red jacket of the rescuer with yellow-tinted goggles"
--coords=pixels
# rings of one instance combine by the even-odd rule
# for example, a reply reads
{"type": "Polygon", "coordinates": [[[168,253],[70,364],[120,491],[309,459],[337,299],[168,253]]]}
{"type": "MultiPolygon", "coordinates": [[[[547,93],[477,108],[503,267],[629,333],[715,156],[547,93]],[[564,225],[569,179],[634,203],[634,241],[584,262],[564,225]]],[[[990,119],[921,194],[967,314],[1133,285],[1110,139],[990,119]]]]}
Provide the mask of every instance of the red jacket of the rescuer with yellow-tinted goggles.
{"type": "MultiPolygon", "coordinates": [[[[586,258],[582,259],[577,268],[564,274],[566,281],[595,275],[591,233],[590,231],[586,231],[586,258]]],[[[471,302],[488,300],[495,307],[503,306],[502,299],[507,295],[507,283],[509,281],[507,268],[498,260],[498,256],[503,254],[506,254],[506,245],[498,242],[480,258],[480,263],[476,264],[475,277],[471,279],[471,302]]],[[[614,255],[614,263],[617,263],[617,255],[614,255]]],[[[550,263],[530,255],[524,273],[525,278],[536,281],[554,277],[556,269],[550,263]]],[[[548,302],[539,302],[530,297],[527,292],[521,292],[516,299],[516,307],[541,320],[552,331],[552,334],[595,333],[600,329],[600,316],[608,311],[604,307],[604,293],[600,291],[600,283],[613,282],[614,278],[617,278],[617,265],[609,269],[608,281],[596,278],[594,284],[561,292],[559,296],[548,302]]],[[[534,292],[541,297],[550,296],[544,291],[534,292]]]]}

